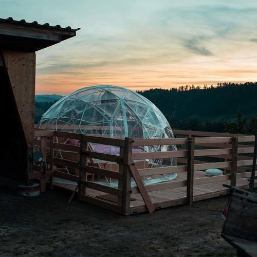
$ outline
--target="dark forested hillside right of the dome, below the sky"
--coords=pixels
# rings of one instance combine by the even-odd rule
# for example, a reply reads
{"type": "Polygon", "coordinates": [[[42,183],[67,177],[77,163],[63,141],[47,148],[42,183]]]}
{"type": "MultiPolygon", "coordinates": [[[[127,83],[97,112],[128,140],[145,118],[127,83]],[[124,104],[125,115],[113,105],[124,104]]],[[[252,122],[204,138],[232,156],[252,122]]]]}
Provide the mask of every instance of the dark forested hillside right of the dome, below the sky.
{"type": "Polygon", "coordinates": [[[257,116],[257,82],[137,92],[152,101],[176,128],[224,131],[224,122],[235,121],[237,111],[243,118],[257,116]]]}

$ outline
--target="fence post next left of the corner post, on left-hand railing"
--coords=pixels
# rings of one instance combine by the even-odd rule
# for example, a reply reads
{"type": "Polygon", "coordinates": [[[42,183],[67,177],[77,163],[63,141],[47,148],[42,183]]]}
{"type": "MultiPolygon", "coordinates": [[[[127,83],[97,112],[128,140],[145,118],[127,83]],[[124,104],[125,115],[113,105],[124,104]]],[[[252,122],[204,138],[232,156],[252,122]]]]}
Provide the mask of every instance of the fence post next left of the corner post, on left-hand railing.
{"type": "Polygon", "coordinates": [[[82,169],[82,166],[87,166],[87,156],[83,155],[82,152],[88,150],[88,142],[83,141],[83,134],[80,139],[80,172],[79,172],[79,180],[78,180],[78,199],[81,201],[82,195],[86,195],[86,186],[81,183],[81,180],[87,180],[86,171],[82,169]]]}

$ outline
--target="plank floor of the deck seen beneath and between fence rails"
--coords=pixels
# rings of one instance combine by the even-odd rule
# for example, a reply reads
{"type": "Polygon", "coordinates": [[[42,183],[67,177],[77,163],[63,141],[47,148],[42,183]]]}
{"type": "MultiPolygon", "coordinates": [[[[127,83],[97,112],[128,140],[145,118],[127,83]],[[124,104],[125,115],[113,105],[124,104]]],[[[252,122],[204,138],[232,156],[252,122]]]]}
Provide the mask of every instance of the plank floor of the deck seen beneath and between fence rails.
{"type": "MultiPolygon", "coordinates": [[[[178,173],[178,177],[173,181],[180,181],[187,177],[187,172],[178,173]]],[[[206,177],[205,173],[202,171],[195,171],[195,178],[206,177]]],[[[193,190],[193,201],[200,201],[205,199],[210,199],[218,196],[223,196],[229,194],[229,189],[223,187],[223,184],[230,185],[230,180],[219,181],[213,183],[206,183],[194,186],[193,190]]],[[[54,182],[54,186],[63,188],[69,191],[74,191],[75,185],[67,185],[64,183],[54,182]]],[[[247,178],[240,178],[236,180],[236,187],[248,189],[249,181],[247,178]]],[[[255,182],[255,187],[257,187],[257,181],[255,182]]],[[[114,195],[109,195],[104,192],[100,192],[94,189],[87,188],[87,195],[98,197],[109,201],[110,203],[117,203],[117,197],[114,195]],[[116,197],[116,198],[115,198],[116,197]]],[[[155,209],[162,209],[177,205],[182,205],[187,203],[187,187],[180,187],[175,189],[165,189],[148,193],[150,199],[155,207],[155,209]]],[[[131,214],[147,212],[144,201],[140,193],[131,195],[131,214]]]]}

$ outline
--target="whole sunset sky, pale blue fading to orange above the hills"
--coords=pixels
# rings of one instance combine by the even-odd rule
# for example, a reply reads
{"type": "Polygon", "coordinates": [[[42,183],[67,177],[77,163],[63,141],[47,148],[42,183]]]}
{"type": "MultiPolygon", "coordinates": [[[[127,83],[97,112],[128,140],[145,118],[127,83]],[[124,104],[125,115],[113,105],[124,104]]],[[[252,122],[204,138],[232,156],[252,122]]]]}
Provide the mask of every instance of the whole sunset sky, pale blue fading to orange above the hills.
{"type": "Polygon", "coordinates": [[[257,1],[0,0],[0,17],[81,28],[37,52],[36,94],[257,80],[257,1]]]}

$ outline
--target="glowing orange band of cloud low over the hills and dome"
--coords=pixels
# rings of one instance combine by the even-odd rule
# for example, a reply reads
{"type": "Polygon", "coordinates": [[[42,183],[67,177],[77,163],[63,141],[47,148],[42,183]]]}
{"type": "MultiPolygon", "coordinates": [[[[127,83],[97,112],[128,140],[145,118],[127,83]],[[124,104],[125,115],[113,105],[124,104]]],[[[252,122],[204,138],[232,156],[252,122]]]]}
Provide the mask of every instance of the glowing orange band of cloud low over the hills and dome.
{"type": "MultiPolygon", "coordinates": [[[[237,60],[237,59],[236,59],[237,60]]],[[[249,59],[250,60],[250,59],[249,59]]],[[[246,82],[257,80],[257,63],[240,63],[197,57],[173,64],[102,66],[76,68],[67,73],[36,76],[36,94],[66,95],[90,85],[113,84],[133,90],[171,88],[181,85],[203,85],[217,82],[246,82]]]]}

